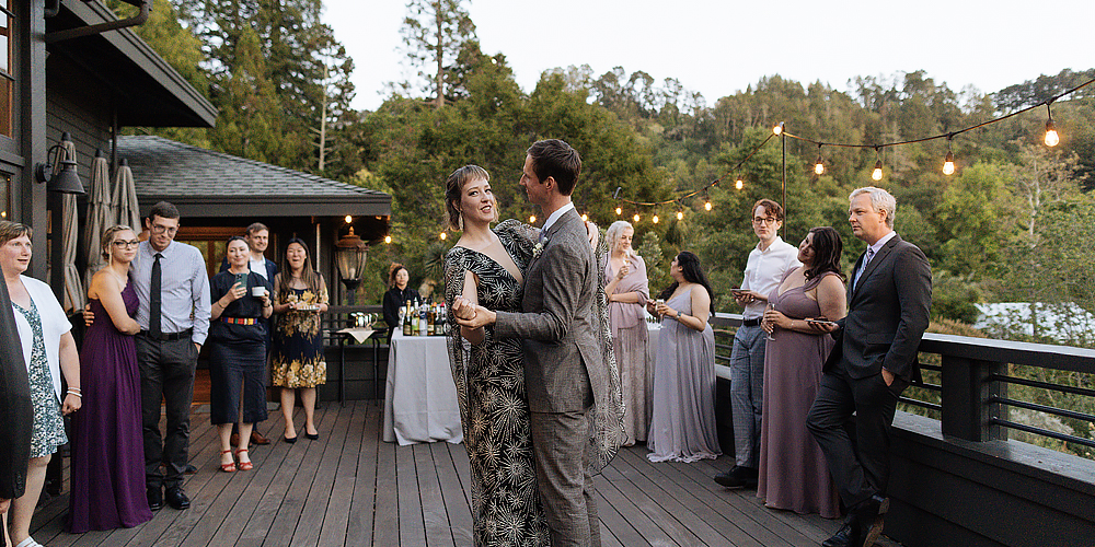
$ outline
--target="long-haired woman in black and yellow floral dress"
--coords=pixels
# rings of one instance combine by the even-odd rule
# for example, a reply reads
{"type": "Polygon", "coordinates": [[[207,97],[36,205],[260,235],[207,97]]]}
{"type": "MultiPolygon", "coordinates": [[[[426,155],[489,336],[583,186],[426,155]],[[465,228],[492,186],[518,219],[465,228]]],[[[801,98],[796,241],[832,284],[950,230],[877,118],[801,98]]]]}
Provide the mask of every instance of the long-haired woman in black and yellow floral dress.
{"type": "Polygon", "coordinates": [[[304,437],[318,440],[315,429],[315,386],[327,381],[327,364],[323,360],[323,329],[320,314],[327,311],[327,286],[323,276],[312,268],[308,246],[293,237],[285,251],[285,268],[274,276],[274,386],[281,388],[281,415],[285,417],[287,443],[297,442],[292,409],[297,405],[296,389],[304,404],[304,437]]]}

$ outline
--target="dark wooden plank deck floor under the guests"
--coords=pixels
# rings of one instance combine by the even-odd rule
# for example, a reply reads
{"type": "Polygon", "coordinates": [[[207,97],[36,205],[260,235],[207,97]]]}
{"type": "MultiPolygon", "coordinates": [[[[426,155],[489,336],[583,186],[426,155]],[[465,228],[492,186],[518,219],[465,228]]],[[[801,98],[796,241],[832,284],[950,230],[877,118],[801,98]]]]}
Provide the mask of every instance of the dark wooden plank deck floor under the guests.
{"type": "MultiPolygon", "coordinates": [[[[255,468],[219,473],[209,415],[192,422],[187,477],[192,505],[165,507],[130,529],[62,532],[67,494],[38,510],[32,535],[56,546],[453,546],[472,545],[468,457],[462,445],[382,442],[376,403],[318,411],[320,440],[254,447],[255,468]]],[[[298,409],[298,423],[303,421],[298,409]]],[[[280,412],[261,428],[281,434],[280,412]]],[[[301,431],[301,429],[298,429],[301,431]]],[[[602,543],[608,546],[817,546],[839,523],[765,509],[753,491],[729,491],[711,477],[728,457],[652,464],[625,449],[597,478],[602,543]]],[[[880,545],[892,546],[886,543],[880,545]]]]}

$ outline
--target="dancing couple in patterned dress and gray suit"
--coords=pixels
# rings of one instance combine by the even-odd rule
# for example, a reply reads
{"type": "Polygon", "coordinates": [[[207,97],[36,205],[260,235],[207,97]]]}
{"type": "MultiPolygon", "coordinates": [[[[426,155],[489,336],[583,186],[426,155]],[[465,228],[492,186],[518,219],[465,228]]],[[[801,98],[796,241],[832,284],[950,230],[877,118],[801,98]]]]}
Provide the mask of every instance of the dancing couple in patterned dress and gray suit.
{"type": "Polygon", "coordinates": [[[476,546],[600,545],[591,475],[620,446],[623,405],[596,226],[570,202],[580,171],[561,140],[528,149],[520,184],[541,229],[489,228],[498,203],[482,167],[446,182],[462,231],[445,259],[446,301],[476,546]]]}

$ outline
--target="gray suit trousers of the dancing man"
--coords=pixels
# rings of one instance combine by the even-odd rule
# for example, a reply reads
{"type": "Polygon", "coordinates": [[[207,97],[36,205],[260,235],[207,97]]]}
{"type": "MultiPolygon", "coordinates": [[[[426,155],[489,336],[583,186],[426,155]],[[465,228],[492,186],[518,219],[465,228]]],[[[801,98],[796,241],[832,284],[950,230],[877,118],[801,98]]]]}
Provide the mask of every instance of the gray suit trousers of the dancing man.
{"type": "Polygon", "coordinates": [[[552,547],[599,547],[600,527],[589,475],[589,422],[581,412],[531,412],[537,481],[552,547]]]}

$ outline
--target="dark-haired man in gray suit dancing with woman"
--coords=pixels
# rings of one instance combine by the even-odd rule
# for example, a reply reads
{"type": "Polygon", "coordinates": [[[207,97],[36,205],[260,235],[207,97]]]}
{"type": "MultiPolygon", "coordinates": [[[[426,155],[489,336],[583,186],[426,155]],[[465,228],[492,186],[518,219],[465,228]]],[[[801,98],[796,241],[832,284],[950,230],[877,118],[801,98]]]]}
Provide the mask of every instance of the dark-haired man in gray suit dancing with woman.
{"type": "Polygon", "coordinates": [[[554,547],[600,545],[586,415],[593,394],[607,393],[608,370],[595,329],[597,261],[570,202],[580,172],[566,142],[541,140],[528,150],[521,186],[548,220],[525,277],[523,313],[452,310],[470,317],[458,319],[463,326],[494,324],[495,336],[523,340],[537,480],[554,547]]]}

